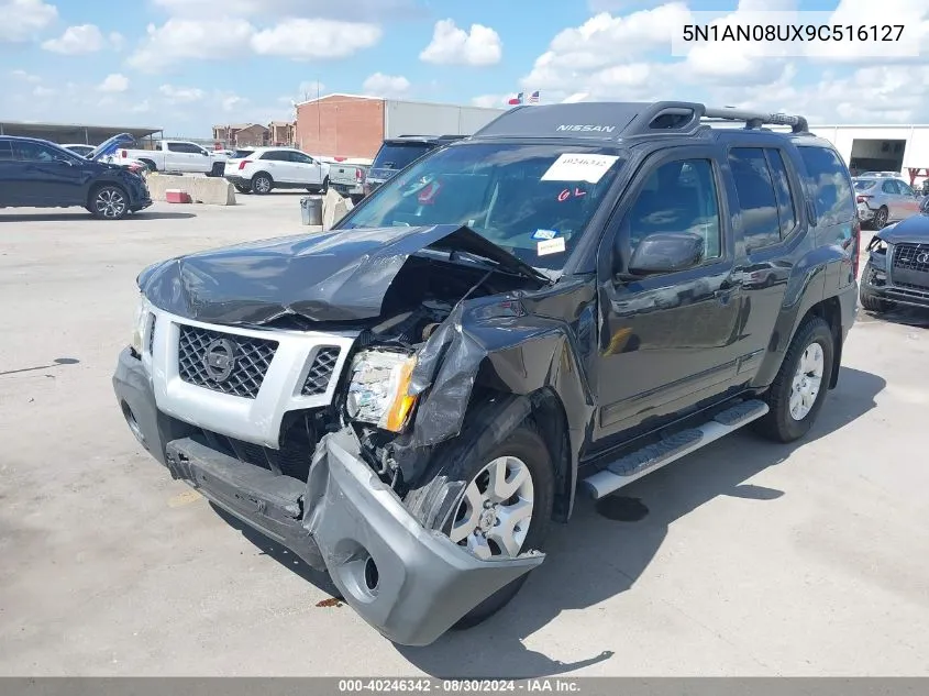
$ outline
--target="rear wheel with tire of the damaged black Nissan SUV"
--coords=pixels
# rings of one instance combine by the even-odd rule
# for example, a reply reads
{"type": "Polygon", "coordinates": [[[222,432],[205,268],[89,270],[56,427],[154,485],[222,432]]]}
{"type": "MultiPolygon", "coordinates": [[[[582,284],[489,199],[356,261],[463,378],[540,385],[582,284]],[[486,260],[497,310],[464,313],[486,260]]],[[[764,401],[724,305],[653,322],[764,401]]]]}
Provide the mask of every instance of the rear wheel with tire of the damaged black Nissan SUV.
{"type": "MultiPolygon", "coordinates": [[[[764,396],[771,410],[756,423],[756,430],[764,437],[774,440],[775,442],[794,442],[803,438],[819,415],[822,408],[822,402],[826,399],[826,393],[829,390],[829,379],[832,375],[832,361],[836,355],[834,336],[829,324],[820,317],[809,317],[800,324],[794,340],[790,341],[790,346],[784,356],[784,362],[781,364],[781,369],[774,378],[771,387],[764,396]],[[795,379],[800,380],[798,374],[801,361],[807,360],[807,366],[816,364],[816,349],[818,346],[821,354],[819,361],[819,384],[816,394],[812,397],[812,404],[808,407],[799,409],[800,417],[792,415],[792,396],[795,388],[795,379]],[[808,352],[809,351],[809,352],[808,352]]],[[[814,380],[806,375],[805,383],[812,385],[814,380]]],[[[800,391],[805,391],[801,387],[804,382],[797,386],[800,391]]],[[[806,391],[809,396],[809,391],[806,391]]]]}

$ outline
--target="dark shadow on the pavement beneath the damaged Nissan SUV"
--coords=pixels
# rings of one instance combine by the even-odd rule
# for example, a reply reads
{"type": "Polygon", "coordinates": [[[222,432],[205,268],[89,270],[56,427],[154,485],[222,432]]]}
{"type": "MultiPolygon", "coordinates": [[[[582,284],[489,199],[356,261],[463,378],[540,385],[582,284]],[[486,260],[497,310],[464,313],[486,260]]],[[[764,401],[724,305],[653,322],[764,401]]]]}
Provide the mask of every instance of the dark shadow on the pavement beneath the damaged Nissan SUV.
{"type": "MultiPolygon", "coordinates": [[[[733,433],[645,476],[623,489],[623,496],[600,501],[596,508],[586,497],[579,498],[571,522],[553,528],[545,562],[498,615],[471,630],[450,631],[432,645],[395,648],[436,677],[542,677],[610,660],[622,649],[620,639],[613,645],[597,647],[588,658],[575,662],[561,662],[530,650],[523,639],[562,611],[593,607],[632,587],[661,548],[668,527],[717,496],[764,505],[786,495],[744,482],[864,416],[874,408],[874,398],[885,386],[876,375],[843,367],[839,386],[829,394],[814,429],[797,443],[776,444],[749,432],[733,433]]],[[[223,517],[288,568],[324,592],[338,592],[324,575],[297,561],[292,553],[237,520],[223,517]]]]}

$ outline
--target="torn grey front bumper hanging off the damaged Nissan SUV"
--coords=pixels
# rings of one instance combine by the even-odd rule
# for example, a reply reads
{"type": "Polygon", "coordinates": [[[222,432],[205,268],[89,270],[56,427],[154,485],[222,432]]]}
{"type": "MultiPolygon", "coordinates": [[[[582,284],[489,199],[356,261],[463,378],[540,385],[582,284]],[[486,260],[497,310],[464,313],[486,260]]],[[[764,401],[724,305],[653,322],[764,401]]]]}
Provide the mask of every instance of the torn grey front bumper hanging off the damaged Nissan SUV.
{"type": "Polygon", "coordinates": [[[349,605],[394,642],[433,642],[544,560],[529,552],[480,561],[425,529],[364,463],[351,431],[323,437],[305,484],[212,450],[197,429],[166,419],[142,362],[129,351],[113,388],[130,428],[172,476],[329,572],[349,605]]]}

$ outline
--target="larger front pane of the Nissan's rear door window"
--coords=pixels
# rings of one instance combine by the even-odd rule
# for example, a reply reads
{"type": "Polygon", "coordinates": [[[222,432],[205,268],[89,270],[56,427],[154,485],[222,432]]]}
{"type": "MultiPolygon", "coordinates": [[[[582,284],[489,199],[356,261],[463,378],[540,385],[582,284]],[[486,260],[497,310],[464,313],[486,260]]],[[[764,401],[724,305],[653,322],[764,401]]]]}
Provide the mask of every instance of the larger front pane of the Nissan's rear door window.
{"type": "Polygon", "coordinates": [[[733,147],[729,166],[739,198],[739,219],[745,251],[771,246],[781,241],[781,220],[774,180],[761,147],[733,147]]]}

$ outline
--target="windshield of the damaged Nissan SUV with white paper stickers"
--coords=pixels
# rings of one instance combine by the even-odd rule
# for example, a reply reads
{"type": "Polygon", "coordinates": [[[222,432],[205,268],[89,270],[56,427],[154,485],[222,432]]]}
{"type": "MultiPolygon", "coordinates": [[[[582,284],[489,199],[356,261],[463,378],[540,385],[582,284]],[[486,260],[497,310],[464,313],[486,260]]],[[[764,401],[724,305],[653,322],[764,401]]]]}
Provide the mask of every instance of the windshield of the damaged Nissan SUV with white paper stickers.
{"type": "Polygon", "coordinates": [[[344,227],[464,224],[560,270],[621,166],[613,150],[589,145],[452,146],[390,179],[344,227]]]}

